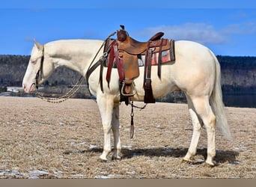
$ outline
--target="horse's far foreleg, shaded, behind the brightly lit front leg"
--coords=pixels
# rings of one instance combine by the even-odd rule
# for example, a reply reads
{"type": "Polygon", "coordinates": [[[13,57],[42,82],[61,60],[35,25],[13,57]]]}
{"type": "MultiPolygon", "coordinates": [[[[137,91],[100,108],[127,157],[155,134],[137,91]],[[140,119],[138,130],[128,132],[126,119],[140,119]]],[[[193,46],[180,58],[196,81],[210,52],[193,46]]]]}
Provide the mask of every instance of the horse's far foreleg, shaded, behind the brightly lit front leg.
{"type": "Polygon", "coordinates": [[[112,114],[112,131],[114,134],[113,159],[121,159],[121,141],[119,135],[119,103],[114,104],[114,110],[112,114]]]}

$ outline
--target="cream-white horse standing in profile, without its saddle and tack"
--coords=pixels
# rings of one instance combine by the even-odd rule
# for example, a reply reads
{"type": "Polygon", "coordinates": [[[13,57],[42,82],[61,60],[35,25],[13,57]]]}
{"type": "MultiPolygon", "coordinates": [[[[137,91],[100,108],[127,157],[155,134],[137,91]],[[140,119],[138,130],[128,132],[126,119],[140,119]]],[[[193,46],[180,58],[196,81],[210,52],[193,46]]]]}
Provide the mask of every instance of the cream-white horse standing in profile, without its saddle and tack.
{"type": "MultiPolygon", "coordinates": [[[[35,91],[38,84],[43,83],[57,67],[69,67],[82,76],[103,44],[102,40],[56,40],[45,45],[35,41],[31,58],[23,78],[23,88],[26,93],[35,91]],[[40,76],[37,76],[40,71],[40,76]],[[39,78],[40,77],[40,78],[39,78]]],[[[98,61],[103,55],[103,49],[95,58],[98,61]]],[[[157,76],[157,67],[152,67],[151,79],[154,98],[165,96],[179,88],[186,94],[189,113],[192,117],[193,133],[189,150],[183,161],[191,162],[195,156],[201,127],[207,129],[207,159],[206,163],[214,165],[216,155],[215,127],[225,138],[231,139],[231,132],[225,117],[222,103],[219,61],[213,52],[199,43],[180,40],[175,42],[176,61],[162,65],[162,78],[157,76]]],[[[93,64],[94,64],[93,63],[93,64]]],[[[140,76],[134,80],[136,94],[132,100],[143,100],[144,67],[139,68],[140,76]]],[[[108,87],[106,82],[106,67],[103,69],[103,90],[99,84],[100,67],[97,67],[88,79],[91,93],[97,97],[97,105],[103,123],[104,147],[100,159],[107,160],[111,152],[111,129],[114,134],[114,154],[121,159],[121,140],[119,135],[119,77],[118,70],[112,70],[108,87]]]]}

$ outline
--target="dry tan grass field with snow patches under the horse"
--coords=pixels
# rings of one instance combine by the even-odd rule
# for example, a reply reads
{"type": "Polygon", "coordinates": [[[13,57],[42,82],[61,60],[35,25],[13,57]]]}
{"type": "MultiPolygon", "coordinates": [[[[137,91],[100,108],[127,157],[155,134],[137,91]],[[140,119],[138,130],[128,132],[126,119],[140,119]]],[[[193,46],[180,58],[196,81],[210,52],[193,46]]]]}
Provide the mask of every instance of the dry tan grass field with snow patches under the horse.
{"type": "MultiPolygon", "coordinates": [[[[136,102],[143,105],[143,102],[136,102]]],[[[97,103],[60,104],[37,98],[0,97],[0,178],[255,178],[256,108],[226,108],[234,141],[216,132],[217,166],[204,165],[203,129],[195,163],[182,163],[192,137],[185,104],[156,103],[135,109],[121,104],[122,159],[101,162],[103,129],[97,103]]]]}

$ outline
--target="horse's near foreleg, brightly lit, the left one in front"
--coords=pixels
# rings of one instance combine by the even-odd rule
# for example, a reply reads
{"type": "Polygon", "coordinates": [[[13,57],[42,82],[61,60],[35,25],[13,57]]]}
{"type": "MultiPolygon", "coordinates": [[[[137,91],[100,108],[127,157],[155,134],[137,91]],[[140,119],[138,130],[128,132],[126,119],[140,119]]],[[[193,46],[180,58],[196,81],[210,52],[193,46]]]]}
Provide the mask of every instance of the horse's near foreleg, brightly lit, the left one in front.
{"type": "Polygon", "coordinates": [[[103,153],[101,154],[100,159],[107,160],[107,156],[111,152],[110,131],[112,129],[112,113],[114,107],[113,96],[103,94],[97,95],[97,105],[100,109],[104,133],[103,153]]]}

